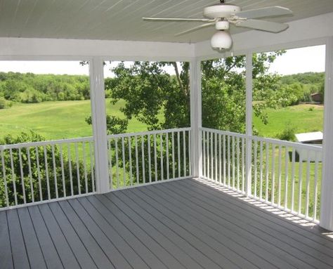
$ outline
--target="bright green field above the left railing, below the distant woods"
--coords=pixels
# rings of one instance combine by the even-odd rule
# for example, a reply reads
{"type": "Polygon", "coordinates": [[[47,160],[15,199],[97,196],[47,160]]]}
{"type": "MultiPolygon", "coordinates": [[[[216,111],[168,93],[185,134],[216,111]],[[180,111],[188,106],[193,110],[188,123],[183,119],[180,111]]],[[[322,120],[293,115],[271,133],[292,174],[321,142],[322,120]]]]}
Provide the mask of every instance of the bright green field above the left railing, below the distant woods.
{"type": "MultiPolygon", "coordinates": [[[[110,100],[105,100],[105,103],[108,114],[123,116],[119,108],[124,102],[111,105],[110,100]]],[[[7,133],[17,135],[33,130],[48,140],[92,136],[92,128],[85,122],[90,114],[90,100],[15,104],[0,110],[0,133],[1,136],[7,133]]],[[[129,122],[129,132],[146,129],[137,119],[129,122]]]]}

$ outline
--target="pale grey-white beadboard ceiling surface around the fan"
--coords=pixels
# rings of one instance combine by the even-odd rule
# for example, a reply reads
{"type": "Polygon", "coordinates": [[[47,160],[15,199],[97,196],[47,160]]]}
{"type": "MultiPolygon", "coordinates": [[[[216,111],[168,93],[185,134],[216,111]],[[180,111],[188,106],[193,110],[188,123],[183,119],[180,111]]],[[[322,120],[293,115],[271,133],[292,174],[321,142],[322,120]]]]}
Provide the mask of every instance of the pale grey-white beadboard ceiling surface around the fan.
{"type": "MultiPolygon", "coordinates": [[[[205,6],[219,0],[0,0],[0,37],[103,39],[126,41],[204,41],[214,27],[181,37],[174,34],[199,22],[147,22],[142,17],[202,18],[205,6]]],[[[293,16],[270,18],[290,22],[333,12],[333,0],[226,0],[242,10],[285,6],[293,16]]],[[[232,27],[230,32],[246,31],[232,27]]]]}

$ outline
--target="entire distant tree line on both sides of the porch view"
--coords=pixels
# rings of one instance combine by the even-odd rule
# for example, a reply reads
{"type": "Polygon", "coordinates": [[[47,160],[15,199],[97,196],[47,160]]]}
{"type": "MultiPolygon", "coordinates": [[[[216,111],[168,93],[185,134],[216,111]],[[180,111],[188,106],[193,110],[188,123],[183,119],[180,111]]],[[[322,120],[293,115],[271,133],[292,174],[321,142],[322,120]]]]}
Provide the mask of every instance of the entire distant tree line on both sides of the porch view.
{"type": "MultiPolygon", "coordinates": [[[[176,78],[171,76],[171,81],[176,81],[176,78]]],[[[112,91],[116,85],[117,77],[105,79],[106,97],[115,95],[112,91]]],[[[277,106],[311,102],[311,93],[322,93],[324,96],[324,85],[324,72],[286,76],[261,72],[260,79],[254,78],[254,88],[257,89],[254,100],[270,100],[270,105],[277,106]]],[[[89,91],[89,77],[85,75],[0,72],[0,109],[11,107],[13,103],[88,100],[89,91]]]]}

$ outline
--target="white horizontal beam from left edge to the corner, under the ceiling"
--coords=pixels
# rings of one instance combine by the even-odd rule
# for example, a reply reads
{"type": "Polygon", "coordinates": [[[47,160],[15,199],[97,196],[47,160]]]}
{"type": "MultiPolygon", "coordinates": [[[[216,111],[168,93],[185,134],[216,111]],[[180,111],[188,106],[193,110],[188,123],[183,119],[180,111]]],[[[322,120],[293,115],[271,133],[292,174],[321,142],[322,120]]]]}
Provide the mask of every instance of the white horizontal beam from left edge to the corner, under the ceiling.
{"type": "Polygon", "coordinates": [[[0,60],[159,60],[189,61],[194,44],[81,39],[0,38],[0,60]]]}

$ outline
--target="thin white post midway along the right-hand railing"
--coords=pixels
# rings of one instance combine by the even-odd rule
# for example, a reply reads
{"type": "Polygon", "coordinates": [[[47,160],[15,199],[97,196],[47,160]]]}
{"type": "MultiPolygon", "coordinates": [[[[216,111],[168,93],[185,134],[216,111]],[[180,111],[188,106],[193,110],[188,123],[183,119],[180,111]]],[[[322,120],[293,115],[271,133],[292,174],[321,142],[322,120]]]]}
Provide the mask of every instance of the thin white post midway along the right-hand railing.
{"type": "Polygon", "coordinates": [[[246,185],[247,196],[252,195],[252,53],[246,55],[246,185]]]}

